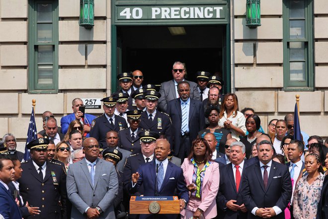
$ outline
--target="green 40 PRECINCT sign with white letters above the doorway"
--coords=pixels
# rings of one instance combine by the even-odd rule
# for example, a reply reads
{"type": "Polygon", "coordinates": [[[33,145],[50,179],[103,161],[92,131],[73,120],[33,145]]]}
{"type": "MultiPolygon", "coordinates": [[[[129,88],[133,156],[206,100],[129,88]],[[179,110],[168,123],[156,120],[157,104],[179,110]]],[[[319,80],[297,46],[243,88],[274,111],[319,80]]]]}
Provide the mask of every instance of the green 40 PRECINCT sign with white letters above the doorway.
{"type": "Polygon", "coordinates": [[[115,23],[228,23],[227,4],[116,5],[115,23]]]}

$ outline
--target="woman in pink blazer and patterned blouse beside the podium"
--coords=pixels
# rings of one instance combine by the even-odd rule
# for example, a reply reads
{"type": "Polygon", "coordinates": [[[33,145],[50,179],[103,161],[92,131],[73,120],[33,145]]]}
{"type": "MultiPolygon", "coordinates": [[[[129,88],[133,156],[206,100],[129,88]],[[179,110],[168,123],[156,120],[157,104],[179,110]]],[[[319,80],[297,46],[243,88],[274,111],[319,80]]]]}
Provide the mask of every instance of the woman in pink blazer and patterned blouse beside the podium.
{"type": "Polygon", "coordinates": [[[184,180],[189,190],[189,202],[181,219],[212,219],[217,216],[216,195],[219,190],[219,164],[204,138],[192,142],[191,152],[182,163],[184,180]]]}

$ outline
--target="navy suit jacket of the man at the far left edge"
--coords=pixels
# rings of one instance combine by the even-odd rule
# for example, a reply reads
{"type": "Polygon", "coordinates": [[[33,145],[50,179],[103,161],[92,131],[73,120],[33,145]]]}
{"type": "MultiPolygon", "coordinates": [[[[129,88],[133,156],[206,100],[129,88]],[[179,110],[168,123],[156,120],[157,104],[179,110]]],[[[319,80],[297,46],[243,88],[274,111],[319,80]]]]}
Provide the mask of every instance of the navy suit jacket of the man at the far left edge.
{"type": "Polygon", "coordinates": [[[22,219],[15,200],[2,183],[0,183],[0,203],[0,215],[4,219],[22,219]]]}

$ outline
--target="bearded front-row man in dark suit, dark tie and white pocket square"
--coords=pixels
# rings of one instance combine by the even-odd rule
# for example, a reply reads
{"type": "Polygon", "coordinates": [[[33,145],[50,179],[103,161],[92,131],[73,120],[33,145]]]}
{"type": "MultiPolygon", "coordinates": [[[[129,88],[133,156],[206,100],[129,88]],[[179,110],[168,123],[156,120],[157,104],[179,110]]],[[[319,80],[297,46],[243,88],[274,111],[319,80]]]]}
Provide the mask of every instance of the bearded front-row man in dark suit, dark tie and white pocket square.
{"type": "Polygon", "coordinates": [[[257,151],[259,162],[243,171],[240,189],[247,218],[285,219],[284,210],[292,196],[288,167],[272,160],[270,141],[259,142],[257,151]]]}

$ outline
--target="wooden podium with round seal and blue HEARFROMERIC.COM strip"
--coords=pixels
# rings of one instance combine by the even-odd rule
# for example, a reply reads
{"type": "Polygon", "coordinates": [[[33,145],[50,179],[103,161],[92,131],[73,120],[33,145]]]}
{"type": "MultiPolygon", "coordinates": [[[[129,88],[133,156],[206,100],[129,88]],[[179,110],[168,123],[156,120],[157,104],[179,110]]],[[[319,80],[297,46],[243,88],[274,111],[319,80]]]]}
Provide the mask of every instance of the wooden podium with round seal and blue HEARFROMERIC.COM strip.
{"type": "Polygon", "coordinates": [[[130,214],[180,214],[177,196],[131,196],[130,214]]]}

